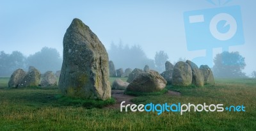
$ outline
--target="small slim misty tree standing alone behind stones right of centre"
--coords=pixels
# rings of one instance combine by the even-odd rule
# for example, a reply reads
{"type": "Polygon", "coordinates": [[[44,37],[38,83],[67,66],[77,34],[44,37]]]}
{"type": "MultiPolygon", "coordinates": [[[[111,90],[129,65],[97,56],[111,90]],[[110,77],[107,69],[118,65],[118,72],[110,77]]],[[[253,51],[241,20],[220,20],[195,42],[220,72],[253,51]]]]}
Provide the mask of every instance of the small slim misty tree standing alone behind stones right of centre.
{"type": "Polygon", "coordinates": [[[164,71],[165,62],[168,58],[168,55],[163,50],[156,52],[155,64],[158,72],[164,71]]]}

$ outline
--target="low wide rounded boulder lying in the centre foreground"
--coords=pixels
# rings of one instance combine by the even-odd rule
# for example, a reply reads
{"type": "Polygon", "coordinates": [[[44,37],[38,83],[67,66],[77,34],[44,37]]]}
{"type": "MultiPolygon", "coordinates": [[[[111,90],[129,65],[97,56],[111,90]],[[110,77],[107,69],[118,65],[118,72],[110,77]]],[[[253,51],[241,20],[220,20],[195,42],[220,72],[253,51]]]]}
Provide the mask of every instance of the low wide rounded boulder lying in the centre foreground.
{"type": "Polygon", "coordinates": [[[127,86],[126,91],[152,93],[161,91],[166,86],[164,78],[156,71],[139,73],[138,76],[127,86]]]}

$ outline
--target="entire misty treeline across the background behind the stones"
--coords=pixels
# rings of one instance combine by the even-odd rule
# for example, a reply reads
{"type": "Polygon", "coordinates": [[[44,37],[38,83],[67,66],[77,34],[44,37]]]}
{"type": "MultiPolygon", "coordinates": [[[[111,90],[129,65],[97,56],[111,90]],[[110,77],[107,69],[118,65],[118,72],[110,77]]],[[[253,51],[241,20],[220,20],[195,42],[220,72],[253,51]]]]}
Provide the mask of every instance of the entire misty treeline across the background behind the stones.
{"type": "MultiPolygon", "coordinates": [[[[143,69],[145,65],[148,65],[150,69],[157,70],[159,73],[164,71],[164,63],[168,60],[168,55],[162,50],[156,52],[154,59],[149,59],[140,45],[129,47],[128,45],[123,45],[122,42],[119,45],[111,43],[108,55],[109,60],[113,61],[116,69],[143,69]]],[[[248,77],[243,72],[246,66],[244,59],[239,52],[222,52],[217,54],[212,68],[214,77],[248,77]]],[[[180,58],[178,61],[186,61],[186,59],[180,58]]],[[[61,64],[60,53],[56,49],[49,47],[44,47],[39,52],[28,57],[19,51],[13,51],[12,54],[6,54],[4,51],[0,52],[0,76],[10,76],[17,68],[28,70],[28,66],[35,66],[41,73],[49,70],[56,72],[61,70],[61,64]]],[[[175,65],[175,62],[173,64],[175,65]]],[[[250,77],[256,77],[256,72],[252,72],[250,77]]]]}

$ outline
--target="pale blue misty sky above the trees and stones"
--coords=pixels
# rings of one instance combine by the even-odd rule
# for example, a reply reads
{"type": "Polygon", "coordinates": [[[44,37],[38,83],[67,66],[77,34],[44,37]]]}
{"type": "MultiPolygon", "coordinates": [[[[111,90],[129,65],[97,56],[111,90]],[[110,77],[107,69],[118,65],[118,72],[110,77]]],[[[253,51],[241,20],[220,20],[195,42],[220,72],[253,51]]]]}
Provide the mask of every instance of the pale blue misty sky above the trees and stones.
{"type": "MultiPolygon", "coordinates": [[[[164,50],[171,62],[179,58],[204,56],[205,50],[188,51],[183,13],[223,7],[206,0],[177,1],[0,1],[0,50],[20,50],[28,56],[42,47],[62,53],[63,36],[70,22],[79,18],[109,49],[111,42],[139,44],[148,58],[164,50]]],[[[233,0],[225,6],[239,5],[243,19],[244,45],[229,47],[246,58],[246,73],[256,70],[256,1],[233,0]]],[[[214,49],[214,54],[221,49],[214,49]]],[[[215,56],[215,55],[214,55],[215,56]]]]}

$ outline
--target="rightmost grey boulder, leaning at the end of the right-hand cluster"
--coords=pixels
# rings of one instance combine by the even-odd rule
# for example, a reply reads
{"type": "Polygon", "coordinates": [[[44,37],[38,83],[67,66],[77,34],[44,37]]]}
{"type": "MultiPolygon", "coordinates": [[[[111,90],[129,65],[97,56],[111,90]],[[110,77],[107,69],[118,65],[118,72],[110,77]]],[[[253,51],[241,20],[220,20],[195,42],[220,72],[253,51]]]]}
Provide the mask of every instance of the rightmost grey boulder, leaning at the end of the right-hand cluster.
{"type": "Polygon", "coordinates": [[[209,66],[201,65],[199,69],[201,71],[202,76],[204,77],[204,84],[215,84],[212,70],[211,68],[209,68],[209,66]]]}

